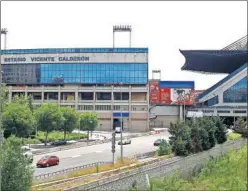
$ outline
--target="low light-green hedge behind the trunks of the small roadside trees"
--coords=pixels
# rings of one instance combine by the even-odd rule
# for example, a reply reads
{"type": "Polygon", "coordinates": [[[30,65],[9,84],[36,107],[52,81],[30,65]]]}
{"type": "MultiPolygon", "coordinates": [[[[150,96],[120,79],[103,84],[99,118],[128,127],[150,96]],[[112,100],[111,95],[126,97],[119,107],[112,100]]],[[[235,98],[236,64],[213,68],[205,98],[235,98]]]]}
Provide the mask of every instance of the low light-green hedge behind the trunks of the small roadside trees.
{"type": "MultiPolygon", "coordinates": [[[[67,136],[67,140],[78,140],[78,139],[86,139],[87,135],[82,133],[70,133],[67,136]]],[[[37,139],[41,142],[45,142],[45,132],[38,131],[37,139]]],[[[52,131],[48,134],[48,142],[52,142],[55,140],[64,139],[64,133],[60,131],[52,131]]]]}

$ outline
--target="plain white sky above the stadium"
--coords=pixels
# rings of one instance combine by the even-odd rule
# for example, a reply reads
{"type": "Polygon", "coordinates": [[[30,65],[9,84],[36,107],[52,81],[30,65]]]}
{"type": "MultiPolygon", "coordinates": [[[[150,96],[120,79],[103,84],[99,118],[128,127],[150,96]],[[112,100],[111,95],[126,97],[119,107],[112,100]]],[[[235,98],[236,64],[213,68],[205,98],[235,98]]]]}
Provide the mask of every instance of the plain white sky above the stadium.
{"type": "MultiPolygon", "coordinates": [[[[113,25],[132,25],[132,47],[149,48],[149,77],[195,81],[204,90],[226,75],[182,71],[182,50],[219,50],[247,34],[246,1],[1,2],[7,49],[113,47],[113,25]]],[[[116,47],[128,47],[117,33],[116,47]]],[[[3,36],[1,37],[3,47],[3,36]]]]}

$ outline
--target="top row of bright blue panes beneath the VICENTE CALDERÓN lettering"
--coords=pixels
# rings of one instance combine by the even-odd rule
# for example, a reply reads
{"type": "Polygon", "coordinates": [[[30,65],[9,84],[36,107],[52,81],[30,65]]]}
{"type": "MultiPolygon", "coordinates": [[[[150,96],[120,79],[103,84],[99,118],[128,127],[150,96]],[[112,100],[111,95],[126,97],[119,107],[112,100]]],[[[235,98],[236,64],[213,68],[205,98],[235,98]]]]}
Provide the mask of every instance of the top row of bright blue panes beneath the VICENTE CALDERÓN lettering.
{"type": "Polygon", "coordinates": [[[73,70],[97,70],[97,71],[122,71],[122,70],[148,70],[148,64],[130,64],[130,63],[115,63],[115,64],[95,64],[95,63],[90,63],[90,64],[41,64],[40,66],[42,71],[47,71],[47,70],[65,70],[65,71],[73,71],[73,70]]]}

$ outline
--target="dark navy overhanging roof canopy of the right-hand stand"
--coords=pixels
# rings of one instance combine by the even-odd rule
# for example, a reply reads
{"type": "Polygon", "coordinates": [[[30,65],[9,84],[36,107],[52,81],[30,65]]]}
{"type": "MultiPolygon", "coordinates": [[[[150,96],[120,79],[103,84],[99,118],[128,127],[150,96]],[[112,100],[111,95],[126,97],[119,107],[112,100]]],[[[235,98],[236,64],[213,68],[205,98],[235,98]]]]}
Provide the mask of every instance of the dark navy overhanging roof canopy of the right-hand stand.
{"type": "Polygon", "coordinates": [[[182,70],[230,74],[248,62],[247,50],[180,50],[182,70]]]}

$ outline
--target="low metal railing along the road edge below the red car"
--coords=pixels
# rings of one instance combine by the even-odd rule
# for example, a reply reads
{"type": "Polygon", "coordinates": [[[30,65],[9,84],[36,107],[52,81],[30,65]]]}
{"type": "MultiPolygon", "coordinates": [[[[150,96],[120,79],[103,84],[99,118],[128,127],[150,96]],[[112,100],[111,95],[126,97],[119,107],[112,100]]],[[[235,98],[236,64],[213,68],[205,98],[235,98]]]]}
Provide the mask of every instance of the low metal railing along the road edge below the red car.
{"type": "Polygon", "coordinates": [[[72,168],[59,170],[59,171],[56,171],[56,172],[40,174],[40,175],[34,176],[33,179],[35,179],[35,180],[45,179],[45,178],[49,178],[51,176],[65,174],[65,173],[72,172],[72,171],[79,170],[79,169],[89,168],[89,167],[92,167],[92,166],[97,166],[97,165],[102,165],[102,164],[110,164],[110,163],[112,163],[112,162],[96,162],[96,163],[76,166],[76,167],[72,167],[72,168]]]}

